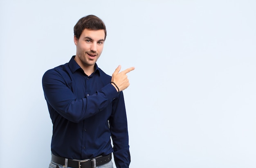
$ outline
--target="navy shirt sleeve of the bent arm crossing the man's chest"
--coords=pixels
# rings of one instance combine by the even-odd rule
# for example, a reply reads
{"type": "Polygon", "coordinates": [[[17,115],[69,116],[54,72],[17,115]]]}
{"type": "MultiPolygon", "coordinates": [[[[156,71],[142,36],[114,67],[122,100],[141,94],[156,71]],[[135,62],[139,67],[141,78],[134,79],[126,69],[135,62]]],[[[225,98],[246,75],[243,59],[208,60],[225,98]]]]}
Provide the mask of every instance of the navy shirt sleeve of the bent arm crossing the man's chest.
{"type": "Polygon", "coordinates": [[[54,69],[45,72],[42,83],[47,103],[75,123],[100,112],[118,96],[115,87],[108,84],[95,94],[78,99],[63,76],[54,69]]]}

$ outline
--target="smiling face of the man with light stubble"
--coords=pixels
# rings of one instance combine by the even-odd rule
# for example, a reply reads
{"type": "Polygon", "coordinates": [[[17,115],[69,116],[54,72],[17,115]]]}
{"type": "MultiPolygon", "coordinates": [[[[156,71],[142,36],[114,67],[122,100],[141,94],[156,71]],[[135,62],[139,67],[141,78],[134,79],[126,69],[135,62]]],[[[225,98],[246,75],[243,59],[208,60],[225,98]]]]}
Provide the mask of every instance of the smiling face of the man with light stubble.
{"type": "Polygon", "coordinates": [[[84,29],[79,39],[74,36],[76,62],[83,67],[94,66],[103,50],[104,40],[105,32],[103,29],[84,29]]]}

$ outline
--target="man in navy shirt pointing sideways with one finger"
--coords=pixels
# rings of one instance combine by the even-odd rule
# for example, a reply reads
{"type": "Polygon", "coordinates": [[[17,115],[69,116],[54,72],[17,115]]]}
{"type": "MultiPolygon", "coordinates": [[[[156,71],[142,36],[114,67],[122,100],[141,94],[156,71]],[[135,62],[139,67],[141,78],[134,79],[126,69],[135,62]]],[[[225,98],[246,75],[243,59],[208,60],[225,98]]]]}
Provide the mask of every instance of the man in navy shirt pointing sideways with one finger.
{"type": "Polygon", "coordinates": [[[96,64],[106,40],[97,16],[74,26],[76,55],[69,63],[45,72],[43,90],[53,123],[49,168],[128,168],[130,152],[124,96],[127,73],[119,65],[111,76],[96,64]],[[113,141],[113,148],[110,141],[113,141]]]}

